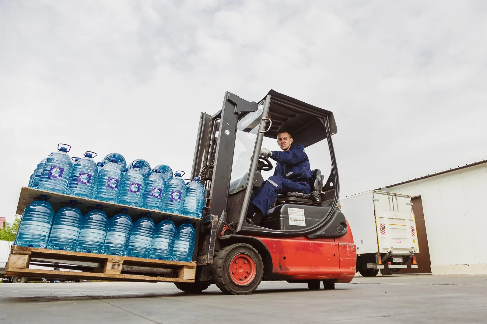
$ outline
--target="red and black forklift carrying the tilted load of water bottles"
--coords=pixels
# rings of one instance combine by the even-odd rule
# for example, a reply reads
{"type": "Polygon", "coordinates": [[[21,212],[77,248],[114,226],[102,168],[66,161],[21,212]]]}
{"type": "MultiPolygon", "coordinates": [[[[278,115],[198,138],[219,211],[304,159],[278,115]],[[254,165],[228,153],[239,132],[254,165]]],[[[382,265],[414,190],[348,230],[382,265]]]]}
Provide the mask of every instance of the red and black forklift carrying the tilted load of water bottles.
{"type": "MultiPolygon", "coordinates": [[[[206,189],[202,221],[197,223],[196,281],[179,282],[198,293],[210,284],[226,294],[250,294],[262,280],[307,283],[311,290],[334,289],[355,275],[356,246],[337,208],[339,181],[332,135],[333,113],[274,90],[260,102],[225,92],[223,107],[201,114],[191,178],[206,189]],[[309,195],[285,193],[259,225],[246,220],[252,190],[262,186],[270,161],[259,156],[263,137],[288,130],[294,144],[323,143],[331,172],[326,181],[313,170],[309,195]]],[[[310,161],[313,166],[313,161],[310,161]]]]}

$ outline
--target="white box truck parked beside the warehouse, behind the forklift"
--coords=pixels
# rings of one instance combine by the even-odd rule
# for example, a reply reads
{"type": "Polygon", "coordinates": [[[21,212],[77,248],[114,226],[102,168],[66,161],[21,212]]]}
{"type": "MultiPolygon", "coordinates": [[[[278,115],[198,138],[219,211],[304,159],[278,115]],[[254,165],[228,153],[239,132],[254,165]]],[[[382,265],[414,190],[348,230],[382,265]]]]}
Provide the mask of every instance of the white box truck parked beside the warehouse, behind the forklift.
{"type": "Polygon", "coordinates": [[[357,247],[356,272],[364,277],[417,268],[419,253],[411,196],[370,190],[340,199],[357,247]]]}

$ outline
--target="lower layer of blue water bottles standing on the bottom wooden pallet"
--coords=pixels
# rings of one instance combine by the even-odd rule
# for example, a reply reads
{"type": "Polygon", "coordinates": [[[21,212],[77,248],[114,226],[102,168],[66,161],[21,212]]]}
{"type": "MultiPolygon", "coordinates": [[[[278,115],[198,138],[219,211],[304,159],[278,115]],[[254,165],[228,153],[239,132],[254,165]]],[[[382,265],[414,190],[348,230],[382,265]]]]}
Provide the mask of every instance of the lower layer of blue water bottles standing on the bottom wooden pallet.
{"type": "Polygon", "coordinates": [[[132,224],[127,209],[111,217],[96,205],[84,216],[76,201],[54,214],[47,196],[25,208],[14,245],[64,251],[192,261],[196,232],[189,221],[176,227],[170,217],[155,224],[147,217],[132,224]]]}

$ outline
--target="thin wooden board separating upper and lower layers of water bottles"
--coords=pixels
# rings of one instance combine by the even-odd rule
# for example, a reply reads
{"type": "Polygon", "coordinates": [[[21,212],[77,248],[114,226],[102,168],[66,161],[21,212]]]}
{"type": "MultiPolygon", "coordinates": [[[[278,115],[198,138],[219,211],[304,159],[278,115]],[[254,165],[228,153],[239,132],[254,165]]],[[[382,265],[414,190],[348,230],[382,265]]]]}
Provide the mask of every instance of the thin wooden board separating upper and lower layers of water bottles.
{"type": "Polygon", "coordinates": [[[117,214],[117,212],[119,212],[121,208],[127,208],[128,214],[131,216],[131,219],[134,222],[141,217],[147,217],[145,215],[147,212],[150,212],[152,214],[150,218],[153,219],[154,222],[156,223],[162,221],[167,216],[170,216],[173,221],[190,220],[192,223],[196,223],[200,221],[200,219],[196,217],[165,213],[157,210],[140,208],[140,207],[112,204],[107,202],[101,202],[99,200],[80,198],[80,197],[65,195],[62,193],[56,193],[56,192],[39,190],[39,189],[28,188],[28,187],[22,187],[22,189],[20,190],[19,204],[17,205],[17,214],[22,215],[25,207],[27,207],[30,203],[36,200],[36,197],[38,197],[39,195],[47,196],[47,201],[53,206],[55,213],[62,207],[61,203],[67,203],[70,200],[75,200],[78,203],[80,203],[79,205],[77,205],[77,208],[79,208],[83,214],[89,211],[90,206],[101,204],[103,205],[103,211],[108,215],[108,217],[117,214]]]}

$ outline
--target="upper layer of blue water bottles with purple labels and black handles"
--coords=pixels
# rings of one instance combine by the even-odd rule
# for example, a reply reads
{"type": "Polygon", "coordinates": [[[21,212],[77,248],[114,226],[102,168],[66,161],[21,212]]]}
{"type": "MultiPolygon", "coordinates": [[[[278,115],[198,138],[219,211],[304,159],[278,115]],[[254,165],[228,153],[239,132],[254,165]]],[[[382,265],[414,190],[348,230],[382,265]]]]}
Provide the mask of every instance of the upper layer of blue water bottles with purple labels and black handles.
{"type": "Polygon", "coordinates": [[[59,144],[58,152],[40,161],[29,187],[201,218],[205,189],[198,177],[186,184],[181,172],[173,177],[169,166],[150,169],[143,159],[127,168],[119,153],[110,153],[103,162],[95,163],[97,154],[87,151],[84,157],[73,158],[73,164],[70,150],[71,146],[59,144]]]}

